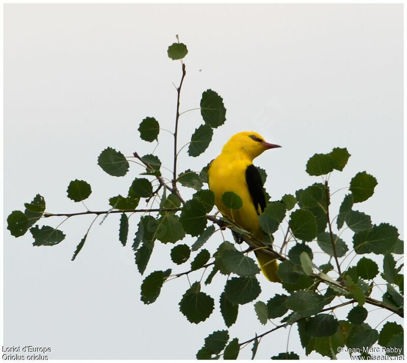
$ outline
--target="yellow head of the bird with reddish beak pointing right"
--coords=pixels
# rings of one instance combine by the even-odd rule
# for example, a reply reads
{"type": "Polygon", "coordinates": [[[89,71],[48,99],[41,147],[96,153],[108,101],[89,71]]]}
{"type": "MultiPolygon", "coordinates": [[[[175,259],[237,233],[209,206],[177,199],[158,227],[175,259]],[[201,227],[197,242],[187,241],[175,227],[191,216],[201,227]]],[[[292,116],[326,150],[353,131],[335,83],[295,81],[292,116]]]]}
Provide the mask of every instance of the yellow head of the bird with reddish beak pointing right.
{"type": "Polygon", "coordinates": [[[230,137],[229,141],[223,147],[222,152],[241,152],[253,160],[255,157],[263,153],[263,151],[273,148],[280,148],[280,146],[266,143],[264,138],[257,132],[244,131],[230,137]]]}

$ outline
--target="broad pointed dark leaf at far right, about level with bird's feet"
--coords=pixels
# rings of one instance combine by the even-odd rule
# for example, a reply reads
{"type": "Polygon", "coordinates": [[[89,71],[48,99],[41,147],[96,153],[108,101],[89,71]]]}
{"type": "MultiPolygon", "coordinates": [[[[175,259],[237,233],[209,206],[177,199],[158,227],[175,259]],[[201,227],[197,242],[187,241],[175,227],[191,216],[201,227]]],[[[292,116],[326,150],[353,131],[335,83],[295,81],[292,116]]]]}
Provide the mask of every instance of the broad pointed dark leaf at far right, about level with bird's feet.
{"type": "Polygon", "coordinates": [[[397,238],[397,228],[387,223],[381,223],[379,226],[373,226],[370,230],[355,233],[353,245],[357,254],[373,252],[380,255],[393,248],[397,238]]]}

